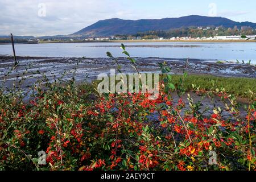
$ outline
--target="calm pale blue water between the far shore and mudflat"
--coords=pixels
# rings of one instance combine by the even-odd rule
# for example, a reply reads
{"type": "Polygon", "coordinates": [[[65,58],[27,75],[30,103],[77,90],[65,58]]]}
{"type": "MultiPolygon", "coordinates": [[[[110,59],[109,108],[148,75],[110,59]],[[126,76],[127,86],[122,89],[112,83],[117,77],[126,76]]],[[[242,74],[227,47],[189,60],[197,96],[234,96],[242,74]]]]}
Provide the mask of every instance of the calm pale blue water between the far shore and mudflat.
{"type": "MultiPolygon", "coordinates": [[[[106,57],[106,52],[121,57],[121,43],[48,43],[16,44],[18,56],[106,57]]],[[[124,43],[134,57],[165,57],[174,59],[251,60],[256,64],[256,43],[124,43]],[[145,46],[145,47],[143,47],[145,46]]],[[[0,55],[12,55],[11,45],[0,45],[0,55]]]]}

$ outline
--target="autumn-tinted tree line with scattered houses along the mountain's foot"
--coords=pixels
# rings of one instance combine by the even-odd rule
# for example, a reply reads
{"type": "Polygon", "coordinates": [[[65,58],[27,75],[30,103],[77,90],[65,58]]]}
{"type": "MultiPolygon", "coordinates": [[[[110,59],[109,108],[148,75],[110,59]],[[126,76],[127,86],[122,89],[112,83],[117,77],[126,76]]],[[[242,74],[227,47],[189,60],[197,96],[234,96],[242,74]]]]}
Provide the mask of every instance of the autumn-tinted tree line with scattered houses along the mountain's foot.
{"type": "Polygon", "coordinates": [[[203,37],[214,37],[214,36],[230,36],[230,35],[256,35],[256,30],[251,27],[237,28],[225,28],[225,27],[189,27],[189,28],[177,28],[168,31],[146,31],[138,32],[133,35],[115,35],[121,36],[123,39],[138,38],[141,39],[156,39],[165,38],[170,39],[173,37],[191,37],[191,38],[203,38],[203,37]]]}

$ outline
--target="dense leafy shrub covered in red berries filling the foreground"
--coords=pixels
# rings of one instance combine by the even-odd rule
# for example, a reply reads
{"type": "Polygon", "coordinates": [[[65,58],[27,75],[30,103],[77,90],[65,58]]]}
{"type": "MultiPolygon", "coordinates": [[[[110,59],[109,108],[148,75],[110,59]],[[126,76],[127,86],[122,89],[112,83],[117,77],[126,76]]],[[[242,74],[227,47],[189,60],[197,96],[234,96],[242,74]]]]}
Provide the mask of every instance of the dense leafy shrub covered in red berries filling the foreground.
{"type": "MultiPolygon", "coordinates": [[[[138,71],[136,61],[125,46],[122,49],[138,71]]],[[[28,100],[16,86],[2,87],[0,169],[254,170],[255,93],[250,92],[251,104],[243,116],[236,98],[224,88],[205,90],[193,84],[201,97],[224,102],[224,108],[216,105],[205,115],[200,101],[188,94],[186,107],[181,98],[190,76],[170,75],[166,63],[160,68],[156,100],[149,100],[149,93],[100,95],[74,79],[49,82],[44,75],[28,100]],[[180,96],[178,102],[173,90],[180,96]],[[224,110],[230,117],[222,115],[224,110]],[[46,165],[38,163],[42,150],[46,165]],[[208,163],[210,151],[217,154],[216,165],[208,163]]]]}

